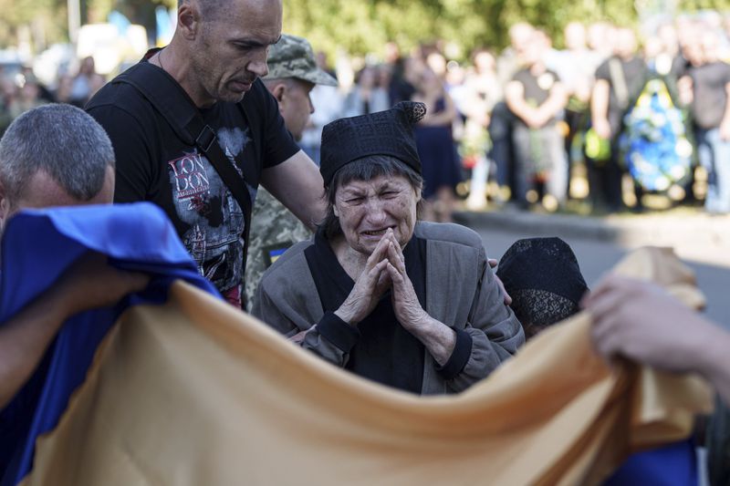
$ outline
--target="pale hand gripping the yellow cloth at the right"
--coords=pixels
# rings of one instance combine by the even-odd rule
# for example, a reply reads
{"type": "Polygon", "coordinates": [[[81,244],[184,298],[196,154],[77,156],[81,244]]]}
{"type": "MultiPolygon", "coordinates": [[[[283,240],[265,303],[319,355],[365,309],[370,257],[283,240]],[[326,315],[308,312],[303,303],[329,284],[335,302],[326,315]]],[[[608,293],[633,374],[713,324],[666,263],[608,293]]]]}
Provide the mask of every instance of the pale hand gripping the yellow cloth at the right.
{"type": "Polygon", "coordinates": [[[591,335],[602,357],[620,355],[669,371],[693,369],[707,346],[704,331],[714,327],[661,287],[618,275],[581,305],[593,317],[591,335]]]}

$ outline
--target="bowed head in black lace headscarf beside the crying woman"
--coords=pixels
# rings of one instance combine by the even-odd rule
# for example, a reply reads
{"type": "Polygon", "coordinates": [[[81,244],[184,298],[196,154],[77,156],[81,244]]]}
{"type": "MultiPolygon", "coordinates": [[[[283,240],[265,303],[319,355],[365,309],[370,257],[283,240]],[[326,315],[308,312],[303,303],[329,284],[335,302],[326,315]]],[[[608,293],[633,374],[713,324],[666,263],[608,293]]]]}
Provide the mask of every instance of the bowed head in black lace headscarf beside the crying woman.
{"type": "Polygon", "coordinates": [[[576,255],[560,238],[516,241],[502,256],[496,274],[512,297],[512,310],[527,339],[576,314],[588,291],[576,255]]]}

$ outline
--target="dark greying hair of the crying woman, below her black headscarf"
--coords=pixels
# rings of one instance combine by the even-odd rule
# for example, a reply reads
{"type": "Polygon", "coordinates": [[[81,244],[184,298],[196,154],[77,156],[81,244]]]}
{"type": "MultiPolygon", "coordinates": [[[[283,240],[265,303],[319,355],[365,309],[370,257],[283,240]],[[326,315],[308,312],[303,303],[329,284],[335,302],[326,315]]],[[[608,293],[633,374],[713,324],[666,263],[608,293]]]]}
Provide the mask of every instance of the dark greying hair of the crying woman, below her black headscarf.
{"type": "MultiPolygon", "coordinates": [[[[335,196],[337,190],[343,184],[350,181],[370,181],[380,176],[400,175],[405,177],[410,183],[414,191],[422,191],[423,178],[421,174],[413,171],[411,167],[388,155],[370,155],[362,159],[353,160],[349,164],[342,166],[339,171],[332,176],[332,181],[325,188],[325,200],[327,201],[327,213],[325,219],[319,223],[319,228],[325,232],[328,240],[342,234],[342,227],[339,225],[339,219],[335,216],[335,196]]],[[[422,200],[418,202],[417,212],[420,214],[422,208],[422,200]]]]}

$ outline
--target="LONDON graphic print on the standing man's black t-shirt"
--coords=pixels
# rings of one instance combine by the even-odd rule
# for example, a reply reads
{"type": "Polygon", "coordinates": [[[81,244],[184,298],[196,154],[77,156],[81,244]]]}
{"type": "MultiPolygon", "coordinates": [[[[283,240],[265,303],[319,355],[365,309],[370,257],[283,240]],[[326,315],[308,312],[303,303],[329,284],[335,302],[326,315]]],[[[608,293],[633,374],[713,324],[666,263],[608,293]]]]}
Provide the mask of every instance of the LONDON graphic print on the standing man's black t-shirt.
{"type": "MultiPolygon", "coordinates": [[[[240,173],[241,159],[250,140],[247,129],[220,129],[218,143],[240,173]]],[[[190,225],[183,243],[198,264],[198,271],[234,305],[241,306],[245,228],[244,212],[210,161],[197,149],[167,162],[172,202],[178,218],[190,225]]],[[[248,187],[252,200],[255,190],[248,187]]]]}

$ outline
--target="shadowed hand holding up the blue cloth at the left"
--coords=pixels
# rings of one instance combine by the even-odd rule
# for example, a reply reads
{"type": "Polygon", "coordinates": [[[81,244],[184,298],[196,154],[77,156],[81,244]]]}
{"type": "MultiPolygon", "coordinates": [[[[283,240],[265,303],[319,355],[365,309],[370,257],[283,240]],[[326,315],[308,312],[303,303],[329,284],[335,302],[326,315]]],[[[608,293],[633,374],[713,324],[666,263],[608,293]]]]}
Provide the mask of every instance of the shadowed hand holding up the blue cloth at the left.
{"type": "Polygon", "coordinates": [[[106,255],[85,253],[61,275],[54,287],[59,303],[74,315],[81,311],[114,305],[127,294],[139,292],[150,277],[111,266],[106,255]]]}

